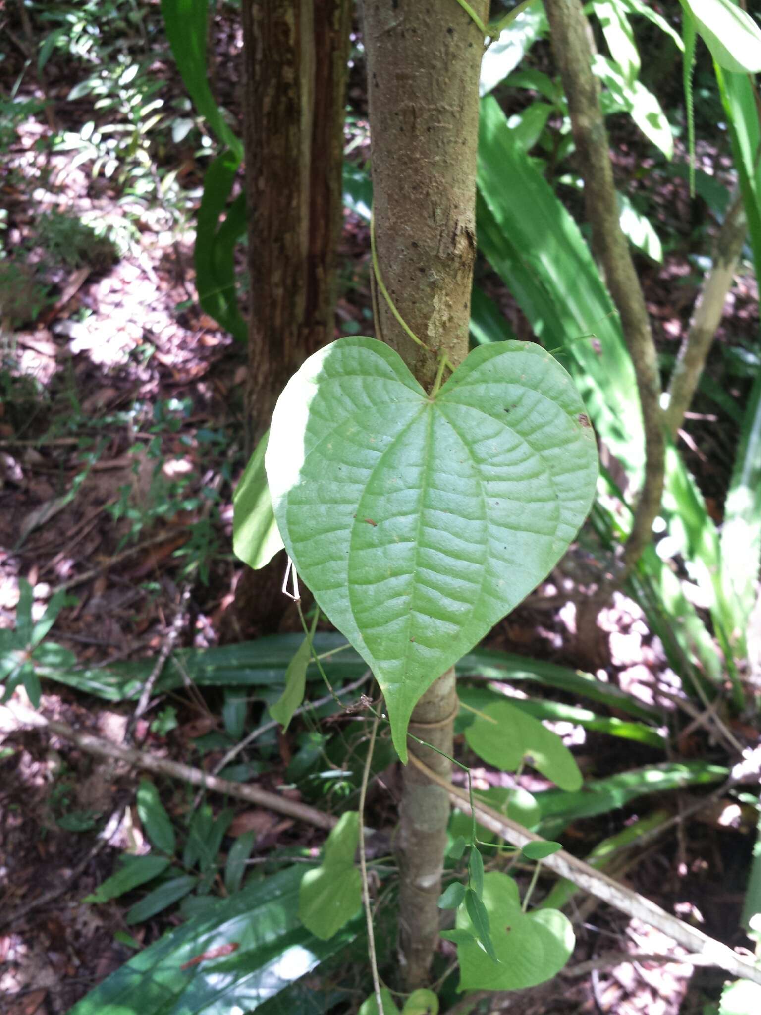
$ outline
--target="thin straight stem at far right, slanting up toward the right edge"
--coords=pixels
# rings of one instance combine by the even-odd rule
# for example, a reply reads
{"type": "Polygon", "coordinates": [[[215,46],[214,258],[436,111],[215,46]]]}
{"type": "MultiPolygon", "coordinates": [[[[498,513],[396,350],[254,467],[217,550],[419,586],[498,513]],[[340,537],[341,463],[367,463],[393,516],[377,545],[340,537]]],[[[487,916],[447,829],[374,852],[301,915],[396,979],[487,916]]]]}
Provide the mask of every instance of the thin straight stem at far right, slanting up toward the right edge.
{"type": "Polygon", "coordinates": [[[705,360],[716,334],[727,294],[735,280],[743,245],[748,233],[742,195],[738,194],[724,216],[716,236],[713,263],[703,280],[690,320],[690,327],[679,350],[679,357],[669,387],[666,427],[676,437],[684,414],[689,409],[705,360]]]}

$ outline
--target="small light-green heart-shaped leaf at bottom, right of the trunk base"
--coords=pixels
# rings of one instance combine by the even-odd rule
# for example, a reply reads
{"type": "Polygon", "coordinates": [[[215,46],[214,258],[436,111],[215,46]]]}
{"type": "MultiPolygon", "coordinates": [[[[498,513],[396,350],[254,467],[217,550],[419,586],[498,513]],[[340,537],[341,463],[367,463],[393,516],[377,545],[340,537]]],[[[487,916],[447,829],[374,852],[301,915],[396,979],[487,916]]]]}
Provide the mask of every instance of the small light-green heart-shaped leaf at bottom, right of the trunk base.
{"type": "MultiPolygon", "coordinates": [[[[523,912],[517,885],[497,872],[484,878],[483,903],[499,963],[492,962],[475,941],[458,944],[461,991],[517,991],[542,984],[563,968],[574,937],[562,912],[523,912]]],[[[476,933],[463,907],[458,910],[458,930],[476,933]]]]}

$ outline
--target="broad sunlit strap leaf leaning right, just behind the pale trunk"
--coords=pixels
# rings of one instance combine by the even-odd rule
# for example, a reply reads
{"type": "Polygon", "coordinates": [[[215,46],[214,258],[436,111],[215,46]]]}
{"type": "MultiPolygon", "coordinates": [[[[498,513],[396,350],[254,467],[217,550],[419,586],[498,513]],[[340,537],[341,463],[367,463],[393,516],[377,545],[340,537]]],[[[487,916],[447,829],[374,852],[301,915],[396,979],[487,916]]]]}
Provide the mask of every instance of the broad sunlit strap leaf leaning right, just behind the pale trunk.
{"type": "Polygon", "coordinates": [[[481,101],[478,242],[548,348],[563,347],[600,436],[636,487],[644,435],[621,326],[586,244],[542,174],[512,143],[504,113],[481,101]],[[593,343],[590,332],[594,332],[593,343]]]}

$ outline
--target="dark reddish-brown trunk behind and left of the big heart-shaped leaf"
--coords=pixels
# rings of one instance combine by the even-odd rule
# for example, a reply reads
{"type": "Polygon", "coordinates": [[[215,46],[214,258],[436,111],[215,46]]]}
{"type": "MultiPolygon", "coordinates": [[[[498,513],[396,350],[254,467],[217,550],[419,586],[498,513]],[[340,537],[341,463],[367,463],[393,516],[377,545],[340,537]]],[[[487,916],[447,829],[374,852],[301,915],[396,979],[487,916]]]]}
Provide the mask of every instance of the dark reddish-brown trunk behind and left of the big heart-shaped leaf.
{"type": "MultiPolygon", "coordinates": [[[[247,453],[286,382],[334,338],[350,0],[244,0],[247,453]]],[[[246,570],[237,636],[277,629],[282,560],[246,570]]]]}

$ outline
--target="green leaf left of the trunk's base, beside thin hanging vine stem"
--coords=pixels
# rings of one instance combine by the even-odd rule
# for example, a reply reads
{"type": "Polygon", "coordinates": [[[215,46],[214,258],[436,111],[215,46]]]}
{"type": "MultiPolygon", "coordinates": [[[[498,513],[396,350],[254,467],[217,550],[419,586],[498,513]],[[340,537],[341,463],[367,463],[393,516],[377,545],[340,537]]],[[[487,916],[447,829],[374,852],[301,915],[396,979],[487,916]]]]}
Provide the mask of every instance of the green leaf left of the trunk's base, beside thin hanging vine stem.
{"type": "Polygon", "coordinates": [[[359,814],[347,811],[328,836],[320,867],[306,871],[298,893],[298,917],[312,933],[328,941],[355,917],[362,904],[362,882],[354,865],[359,814]]]}

